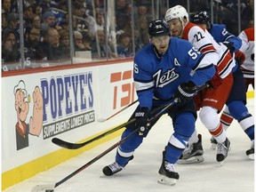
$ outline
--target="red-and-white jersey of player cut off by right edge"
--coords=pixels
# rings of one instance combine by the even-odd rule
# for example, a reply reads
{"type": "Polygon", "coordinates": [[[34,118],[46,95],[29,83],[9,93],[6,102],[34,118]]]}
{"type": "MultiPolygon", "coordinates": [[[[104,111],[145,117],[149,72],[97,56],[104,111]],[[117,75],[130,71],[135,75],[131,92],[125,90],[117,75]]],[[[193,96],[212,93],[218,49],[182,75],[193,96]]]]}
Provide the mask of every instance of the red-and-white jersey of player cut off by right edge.
{"type": "Polygon", "coordinates": [[[254,28],[244,29],[238,36],[242,40],[241,52],[245,60],[241,66],[245,78],[254,78],[254,28]]]}

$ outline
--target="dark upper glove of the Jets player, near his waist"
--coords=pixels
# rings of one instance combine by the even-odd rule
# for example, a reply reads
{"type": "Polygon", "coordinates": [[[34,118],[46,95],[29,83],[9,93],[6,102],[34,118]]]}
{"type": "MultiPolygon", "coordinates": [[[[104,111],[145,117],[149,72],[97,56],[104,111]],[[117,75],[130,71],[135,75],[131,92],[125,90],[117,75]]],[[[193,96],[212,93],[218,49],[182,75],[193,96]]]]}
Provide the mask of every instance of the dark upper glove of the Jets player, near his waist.
{"type": "Polygon", "coordinates": [[[189,100],[192,100],[196,95],[196,84],[192,81],[183,83],[178,86],[178,90],[174,95],[174,98],[178,98],[180,105],[184,105],[189,100]]]}

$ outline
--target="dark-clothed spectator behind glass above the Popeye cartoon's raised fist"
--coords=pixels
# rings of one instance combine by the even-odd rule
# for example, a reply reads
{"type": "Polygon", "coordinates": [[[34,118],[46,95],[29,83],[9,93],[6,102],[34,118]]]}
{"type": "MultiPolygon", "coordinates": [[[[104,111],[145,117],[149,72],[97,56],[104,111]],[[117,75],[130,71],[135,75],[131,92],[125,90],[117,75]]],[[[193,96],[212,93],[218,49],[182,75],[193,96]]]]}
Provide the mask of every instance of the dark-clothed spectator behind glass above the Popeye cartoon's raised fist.
{"type": "MultiPolygon", "coordinates": [[[[37,60],[38,57],[37,57],[36,50],[38,50],[37,46],[40,42],[40,29],[35,27],[27,27],[24,37],[25,37],[24,39],[25,60],[37,60]]],[[[26,64],[29,64],[29,63],[26,63],[26,64]]]]}

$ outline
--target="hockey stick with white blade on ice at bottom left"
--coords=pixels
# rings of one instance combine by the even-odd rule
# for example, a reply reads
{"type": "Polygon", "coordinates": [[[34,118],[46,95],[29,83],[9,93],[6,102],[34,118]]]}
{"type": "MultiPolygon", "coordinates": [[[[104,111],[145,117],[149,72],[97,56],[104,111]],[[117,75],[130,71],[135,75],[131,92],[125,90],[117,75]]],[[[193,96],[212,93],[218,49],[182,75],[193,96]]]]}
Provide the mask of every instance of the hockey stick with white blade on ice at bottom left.
{"type": "MultiPolygon", "coordinates": [[[[172,106],[174,104],[176,104],[177,102],[179,102],[178,99],[173,100],[172,102],[170,102],[168,105],[165,105],[164,108],[162,108],[156,115],[154,115],[152,118],[149,119],[149,122],[154,120],[155,118],[158,118],[159,116],[162,116],[165,111],[167,111],[169,108],[172,108],[172,106]]],[[[108,148],[107,150],[103,151],[99,156],[94,157],[90,162],[88,162],[87,164],[84,164],[82,167],[80,167],[79,169],[77,169],[75,172],[72,172],[71,174],[69,174],[67,177],[65,177],[64,179],[60,180],[59,182],[56,182],[55,184],[51,184],[51,185],[36,185],[34,188],[32,188],[31,192],[38,192],[38,191],[54,191],[54,188],[57,188],[58,186],[60,186],[62,183],[66,182],[67,180],[69,180],[70,178],[72,178],[73,176],[75,176],[77,173],[82,172],[86,167],[90,166],[91,164],[95,163],[96,161],[98,161],[102,156],[107,155],[110,151],[112,151],[114,148],[116,148],[117,146],[121,145],[122,143],[124,143],[125,140],[127,140],[128,138],[132,137],[132,135],[134,135],[136,132],[139,131],[140,128],[135,129],[133,132],[131,132],[129,135],[127,135],[126,137],[124,137],[122,140],[119,140],[118,142],[116,142],[114,145],[112,145],[110,148],[108,148]]]]}

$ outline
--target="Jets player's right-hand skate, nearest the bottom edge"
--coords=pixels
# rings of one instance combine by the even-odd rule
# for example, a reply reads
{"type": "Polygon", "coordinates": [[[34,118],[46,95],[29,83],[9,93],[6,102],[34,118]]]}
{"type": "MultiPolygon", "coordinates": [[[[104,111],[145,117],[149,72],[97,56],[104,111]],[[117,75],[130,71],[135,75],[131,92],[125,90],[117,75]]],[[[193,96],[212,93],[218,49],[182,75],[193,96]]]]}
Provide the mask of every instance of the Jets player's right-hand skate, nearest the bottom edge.
{"type": "Polygon", "coordinates": [[[178,172],[174,172],[174,164],[170,164],[163,160],[161,167],[158,171],[161,174],[161,178],[158,180],[159,183],[164,185],[175,185],[176,181],[179,180],[180,175],[178,172]]]}

